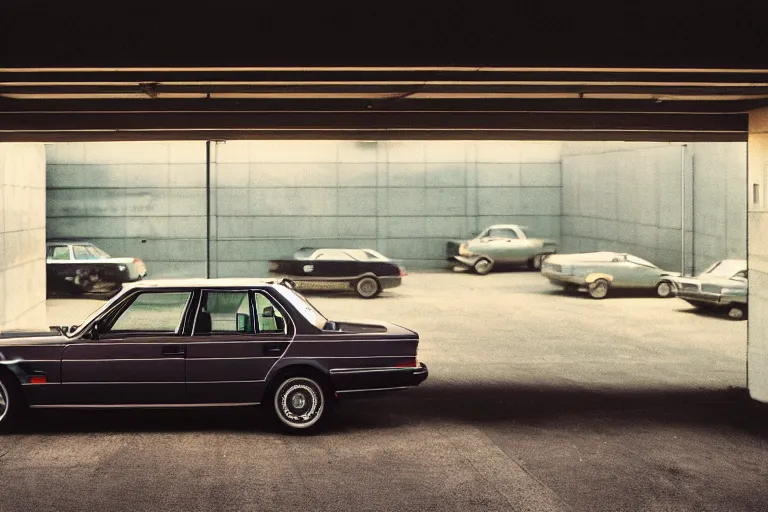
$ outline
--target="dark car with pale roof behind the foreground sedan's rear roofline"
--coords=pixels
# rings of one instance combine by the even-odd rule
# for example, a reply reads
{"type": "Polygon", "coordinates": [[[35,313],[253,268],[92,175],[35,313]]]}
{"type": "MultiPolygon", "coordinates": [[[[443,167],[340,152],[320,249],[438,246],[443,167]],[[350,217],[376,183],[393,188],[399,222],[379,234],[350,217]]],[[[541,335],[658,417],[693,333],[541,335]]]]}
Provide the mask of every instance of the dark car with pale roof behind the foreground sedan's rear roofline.
{"type": "Polygon", "coordinates": [[[298,290],[354,291],[364,299],[402,284],[399,263],[373,249],[302,247],[292,258],[269,261],[269,272],[290,279],[298,290]]]}

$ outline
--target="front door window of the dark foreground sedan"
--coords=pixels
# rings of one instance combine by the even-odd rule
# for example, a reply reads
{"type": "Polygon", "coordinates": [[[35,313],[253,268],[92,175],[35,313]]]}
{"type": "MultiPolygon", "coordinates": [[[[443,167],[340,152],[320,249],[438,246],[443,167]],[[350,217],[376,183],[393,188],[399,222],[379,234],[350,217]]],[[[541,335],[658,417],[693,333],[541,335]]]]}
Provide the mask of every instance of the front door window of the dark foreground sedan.
{"type": "Polygon", "coordinates": [[[143,292],[112,322],[105,333],[178,333],[189,292],[143,292]]]}

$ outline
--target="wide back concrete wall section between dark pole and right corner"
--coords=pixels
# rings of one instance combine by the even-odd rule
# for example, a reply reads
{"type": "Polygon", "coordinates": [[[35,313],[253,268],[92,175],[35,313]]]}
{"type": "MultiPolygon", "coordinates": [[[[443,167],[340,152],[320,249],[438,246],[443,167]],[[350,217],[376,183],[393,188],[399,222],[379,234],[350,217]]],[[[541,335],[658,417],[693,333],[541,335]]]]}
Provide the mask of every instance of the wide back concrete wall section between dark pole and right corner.
{"type": "Polygon", "coordinates": [[[559,144],[228,142],[213,158],[218,276],[266,272],[302,246],[442,267],[446,239],[495,222],[560,235],[559,144]]]}

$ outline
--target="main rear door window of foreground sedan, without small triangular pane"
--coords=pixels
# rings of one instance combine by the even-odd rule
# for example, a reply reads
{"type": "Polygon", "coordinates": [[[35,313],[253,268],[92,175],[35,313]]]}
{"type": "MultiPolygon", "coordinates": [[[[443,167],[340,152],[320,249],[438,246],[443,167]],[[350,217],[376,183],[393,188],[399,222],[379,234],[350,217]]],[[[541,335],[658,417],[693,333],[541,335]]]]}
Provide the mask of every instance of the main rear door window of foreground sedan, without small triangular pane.
{"type": "Polygon", "coordinates": [[[203,291],[193,336],[253,334],[247,291],[203,291]]]}

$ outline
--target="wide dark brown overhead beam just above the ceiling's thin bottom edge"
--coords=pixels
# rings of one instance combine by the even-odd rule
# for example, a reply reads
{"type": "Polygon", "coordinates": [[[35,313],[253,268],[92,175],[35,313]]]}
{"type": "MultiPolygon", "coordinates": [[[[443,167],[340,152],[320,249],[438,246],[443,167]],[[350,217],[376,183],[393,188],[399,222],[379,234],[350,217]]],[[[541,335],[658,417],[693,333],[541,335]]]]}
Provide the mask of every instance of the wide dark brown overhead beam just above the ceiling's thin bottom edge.
{"type": "Polygon", "coordinates": [[[89,130],[646,130],[746,133],[747,114],[528,112],[0,113],[0,132],[89,130]]]}

